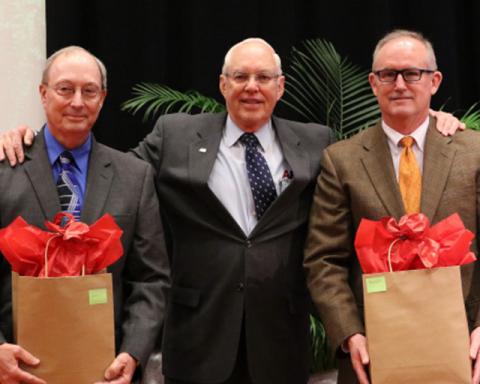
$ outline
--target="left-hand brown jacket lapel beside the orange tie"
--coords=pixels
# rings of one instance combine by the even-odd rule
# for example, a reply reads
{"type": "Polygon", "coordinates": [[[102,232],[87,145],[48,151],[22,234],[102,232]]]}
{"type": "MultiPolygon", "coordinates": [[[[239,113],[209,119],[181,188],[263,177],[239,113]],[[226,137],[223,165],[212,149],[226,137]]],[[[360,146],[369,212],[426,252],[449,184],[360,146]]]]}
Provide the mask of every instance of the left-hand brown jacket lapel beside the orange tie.
{"type": "Polygon", "coordinates": [[[365,133],[362,163],[388,214],[400,218],[404,213],[400,189],[393,169],[392,155],[381,123],[365,133]]]}

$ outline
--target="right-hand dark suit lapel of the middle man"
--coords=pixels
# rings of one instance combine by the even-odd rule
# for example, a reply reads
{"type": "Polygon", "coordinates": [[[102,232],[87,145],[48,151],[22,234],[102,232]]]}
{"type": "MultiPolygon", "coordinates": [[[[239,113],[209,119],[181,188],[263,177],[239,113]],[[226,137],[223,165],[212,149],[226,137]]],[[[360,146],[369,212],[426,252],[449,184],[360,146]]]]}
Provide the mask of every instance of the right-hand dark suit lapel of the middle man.
{"type": "Polygon", "coordinates": [[[286,121],[275,117],[272,120],[285,161],[293,171],[293,180],[261,217],[252,231],[252,236],[279,219],[282,212],[288,212],[291,202],[298,198],[315,176],[312,175],[310,158],[307,151],[302,149],[300,138],[288,126],[286,121]]]}

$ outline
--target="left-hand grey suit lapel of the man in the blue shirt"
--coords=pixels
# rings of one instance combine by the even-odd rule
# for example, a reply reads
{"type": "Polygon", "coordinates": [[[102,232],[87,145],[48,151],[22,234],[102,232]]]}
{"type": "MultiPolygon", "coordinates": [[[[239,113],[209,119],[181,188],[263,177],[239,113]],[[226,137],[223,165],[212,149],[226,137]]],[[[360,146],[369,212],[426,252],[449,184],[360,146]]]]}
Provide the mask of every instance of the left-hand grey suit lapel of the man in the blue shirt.
{"type": "Polygon", "coordinates": [[[60,200],[53,180],[52,167],[45,148],[43,129],[37,135],[35,143],[26,152],[25,173],[40,202],[40,207],[47,220],[52,220],[60,212],[60,200]]]}

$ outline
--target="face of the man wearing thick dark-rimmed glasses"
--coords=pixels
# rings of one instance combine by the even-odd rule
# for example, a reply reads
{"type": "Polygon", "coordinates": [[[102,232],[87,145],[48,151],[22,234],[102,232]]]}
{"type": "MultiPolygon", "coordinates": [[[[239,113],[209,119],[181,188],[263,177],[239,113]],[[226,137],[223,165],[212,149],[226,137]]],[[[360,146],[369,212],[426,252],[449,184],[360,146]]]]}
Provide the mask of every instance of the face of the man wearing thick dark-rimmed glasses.
{"type": "MultiPolygon", "coordinates": [[[[411,37],[399,37],[387,42],[373,63],[374,72],[382,69],[420,68],[434,70],[426,46],[411,37]]],[[[397,131],[408,134],[428,116],[430,100],[442,81],[439,71],[423,73],[420,80],[406,82],[398,75],[393,83],[382,83],[372,72],[370,85],[377,97],[383,120],[397,131]]]]}

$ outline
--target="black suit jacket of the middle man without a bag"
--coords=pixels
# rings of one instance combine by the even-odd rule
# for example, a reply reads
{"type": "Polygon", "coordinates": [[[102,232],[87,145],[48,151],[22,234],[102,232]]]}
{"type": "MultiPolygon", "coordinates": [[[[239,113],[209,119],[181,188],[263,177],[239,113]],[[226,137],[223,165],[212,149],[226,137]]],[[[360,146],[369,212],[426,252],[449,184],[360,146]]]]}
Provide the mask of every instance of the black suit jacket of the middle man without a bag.
{"type": "Polygon", "coordinates": [[[167,377],[221,382],[242,329],[255,383],[302,383],[309,367],[302,269],[313,181],[331,131],[273,118],[294,179],[249,236],[208,187],[226,115],[162,116],[135,149],[157,173],[168,225],[172,289],[165,319],[167,377]]]}

